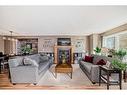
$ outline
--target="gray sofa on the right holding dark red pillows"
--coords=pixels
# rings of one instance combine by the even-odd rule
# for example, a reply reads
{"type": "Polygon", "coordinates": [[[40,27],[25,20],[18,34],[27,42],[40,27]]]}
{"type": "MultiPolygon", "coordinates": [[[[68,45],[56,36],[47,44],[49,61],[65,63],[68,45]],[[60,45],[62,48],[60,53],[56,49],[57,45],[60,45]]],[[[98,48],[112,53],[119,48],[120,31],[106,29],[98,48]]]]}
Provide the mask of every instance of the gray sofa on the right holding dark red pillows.
{"type": "Polygon", "coordinates": [[[93,84],[99,82],[99,65],[95,65],[100,59],[104,61],[112,61],[112,58],[101,56],[101,55],[92,55],[93,63],[85,62],[82,59],[79,60],[79,66],[82,71],[88,76],[93,84]]]}

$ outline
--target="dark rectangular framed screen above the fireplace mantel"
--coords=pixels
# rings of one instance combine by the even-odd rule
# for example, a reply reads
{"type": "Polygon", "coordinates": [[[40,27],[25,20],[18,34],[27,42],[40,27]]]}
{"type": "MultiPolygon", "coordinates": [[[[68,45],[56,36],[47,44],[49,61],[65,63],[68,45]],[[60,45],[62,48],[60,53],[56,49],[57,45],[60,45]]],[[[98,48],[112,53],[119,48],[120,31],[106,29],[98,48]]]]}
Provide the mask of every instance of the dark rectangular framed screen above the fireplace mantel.
{"type": "Polygon", "coordinates": [[[71,45],[71,38],[57,38],[57,45],[70,46],[71,45]]]}

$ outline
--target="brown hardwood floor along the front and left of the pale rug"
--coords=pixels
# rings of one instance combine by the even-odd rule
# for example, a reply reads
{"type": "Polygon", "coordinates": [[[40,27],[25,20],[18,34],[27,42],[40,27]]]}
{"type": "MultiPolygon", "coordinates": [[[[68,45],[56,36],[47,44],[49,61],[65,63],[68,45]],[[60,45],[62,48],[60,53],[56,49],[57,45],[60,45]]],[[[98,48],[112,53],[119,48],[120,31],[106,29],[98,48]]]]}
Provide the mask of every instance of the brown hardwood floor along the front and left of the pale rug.
{"type": "MultiPolygon", "coordinates": [[[[122,89],[127,89],[127,82],[123,82],[122,89]]],[[[8,78],[8,72],[2,72],[0,74],[0,90],[104,90],[106,89],[106,85],[102,84],[102,86],[90,85],[90,86],[38,86],[33,84],[16,84],[13,85],[8,78]]],[[[116,86],[111,87],[111,89],[119,90],[116,86]]]]}

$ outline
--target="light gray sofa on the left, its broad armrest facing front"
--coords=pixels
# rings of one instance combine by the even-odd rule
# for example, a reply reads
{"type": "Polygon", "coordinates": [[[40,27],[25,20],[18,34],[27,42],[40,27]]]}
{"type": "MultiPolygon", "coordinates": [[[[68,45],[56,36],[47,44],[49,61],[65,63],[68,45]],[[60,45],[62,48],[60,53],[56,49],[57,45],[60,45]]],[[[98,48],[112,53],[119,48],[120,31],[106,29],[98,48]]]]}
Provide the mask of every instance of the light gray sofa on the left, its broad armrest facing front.
{"type": "Polygon", "coordinates": [[[14,57],[9,60],[11,82],[13,84],[33,83],[36,85],[52,64],[52,58],[45,59],[40,54],[14,57]],[[34,60],[36,65],[24,65],[24,58],[34,60]]]}

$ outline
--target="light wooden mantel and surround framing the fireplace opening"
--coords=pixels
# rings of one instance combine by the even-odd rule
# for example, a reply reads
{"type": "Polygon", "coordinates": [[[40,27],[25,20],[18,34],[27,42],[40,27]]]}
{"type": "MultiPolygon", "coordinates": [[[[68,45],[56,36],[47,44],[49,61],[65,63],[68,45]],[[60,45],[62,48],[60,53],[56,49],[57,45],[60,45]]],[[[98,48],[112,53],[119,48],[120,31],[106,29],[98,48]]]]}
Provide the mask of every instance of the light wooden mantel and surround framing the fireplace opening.
{"type": "Polygon", "coordinates": [[[67,48],[69,48],[69,49],[71,49],[71,63],[70,64],[72,64],[73,63],[73,50],[74,50],[74,47],[71,45],[71,46],[58,46],[58,45],[55,45],[54,46],[54,63],[55,64],[58,64],[58,49],[67,49],[67,48]]]}

